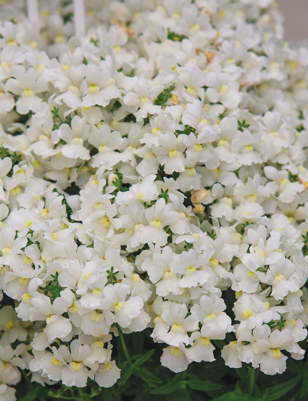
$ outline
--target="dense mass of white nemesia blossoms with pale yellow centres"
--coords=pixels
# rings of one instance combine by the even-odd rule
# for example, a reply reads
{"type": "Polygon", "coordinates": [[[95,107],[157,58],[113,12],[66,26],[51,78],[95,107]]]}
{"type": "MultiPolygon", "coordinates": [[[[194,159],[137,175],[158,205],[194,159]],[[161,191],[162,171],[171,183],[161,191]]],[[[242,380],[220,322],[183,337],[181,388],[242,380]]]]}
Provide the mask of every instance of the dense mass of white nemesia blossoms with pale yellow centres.
{"type": "Polygon", "coordinates": [[[145,328],[173,372],[227,333],[229,367],[302,359],[308,49],[276,3],[89,0],[82,38],[39,7],[36,41],[2,6],[1,395],[111,387],[112,336],[145,328]]]}

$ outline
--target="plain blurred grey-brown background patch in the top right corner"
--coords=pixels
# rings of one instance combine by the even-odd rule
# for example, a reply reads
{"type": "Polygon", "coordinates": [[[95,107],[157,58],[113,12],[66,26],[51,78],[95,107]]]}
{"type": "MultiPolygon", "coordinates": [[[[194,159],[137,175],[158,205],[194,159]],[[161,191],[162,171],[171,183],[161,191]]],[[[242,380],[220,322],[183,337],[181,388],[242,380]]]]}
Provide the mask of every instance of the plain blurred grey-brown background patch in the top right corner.
{"type": "Polygon", "coordinates": [[[285,39],[308,39],[308,0],[276,0],[284,14],[285,39]]]}

